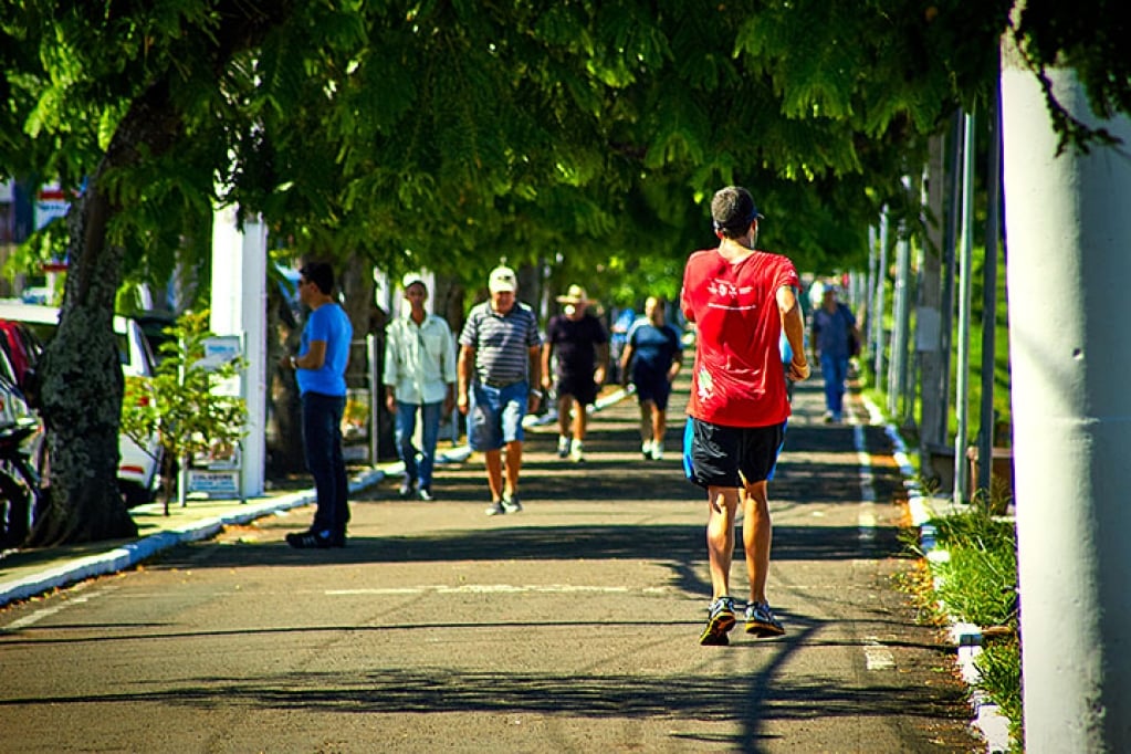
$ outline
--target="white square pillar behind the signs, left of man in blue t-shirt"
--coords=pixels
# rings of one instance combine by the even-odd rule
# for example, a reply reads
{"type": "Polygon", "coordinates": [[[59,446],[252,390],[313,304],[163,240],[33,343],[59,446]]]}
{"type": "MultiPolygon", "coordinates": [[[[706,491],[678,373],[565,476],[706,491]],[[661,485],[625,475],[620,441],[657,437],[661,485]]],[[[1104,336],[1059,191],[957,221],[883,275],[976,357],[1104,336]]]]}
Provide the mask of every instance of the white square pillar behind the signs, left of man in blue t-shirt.
{"type": "Polygon", "coordinates": [[[242,393],[248,434],[241,444],[240,494],[264,494],[267,461],[267,226],[259,219],[236,225],[235,207],[213,218],[211,321],[216,335],[238,335],[248,362],[242,393]]]}

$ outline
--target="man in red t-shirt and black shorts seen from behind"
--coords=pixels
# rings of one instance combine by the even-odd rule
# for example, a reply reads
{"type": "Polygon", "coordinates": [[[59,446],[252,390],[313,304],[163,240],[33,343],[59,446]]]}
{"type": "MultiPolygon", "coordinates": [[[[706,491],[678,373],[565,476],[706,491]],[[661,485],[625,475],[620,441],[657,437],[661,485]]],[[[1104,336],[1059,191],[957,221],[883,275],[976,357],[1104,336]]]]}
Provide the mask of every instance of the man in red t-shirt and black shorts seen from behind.
{"type": "Polygon", "coordinates": [[[684,436],[688,478],[707,489],[711,604],[701,644],[727,644],[734,627],[731,557],[739,503],[750,577],[746,633],[785,633],[766,600],[770,562],[767,482],[789,416],[788,380],[810,374],[805,323],[796,300],[797,270],[779,254],[758,251],[761,215],[750,192],[727,187],[711,200],[717,249],[697,251],[683,272],[681,306],[696,322],[696,363],[684,436]],[[786,372],[778,339],[793,348],[786,372]]]}

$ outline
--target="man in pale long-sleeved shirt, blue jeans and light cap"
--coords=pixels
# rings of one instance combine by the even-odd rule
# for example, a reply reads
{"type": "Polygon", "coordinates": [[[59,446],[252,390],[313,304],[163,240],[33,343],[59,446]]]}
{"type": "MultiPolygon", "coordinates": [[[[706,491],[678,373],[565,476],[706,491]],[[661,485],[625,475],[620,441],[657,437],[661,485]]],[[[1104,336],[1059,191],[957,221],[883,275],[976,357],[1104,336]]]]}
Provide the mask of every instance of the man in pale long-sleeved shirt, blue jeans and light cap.
{"type": "Polygon", "coordinates": [[[396,417],[397,456],[405,465],[400,497],[431,501],[440,417],[456,406],[456,339],[447,320],[424,309],[424,278],[409,272],[402,287],[408,311],[386,332],[385,402],[396,417]],[[417,415],[420,448],[413,444],[417,415]]]}

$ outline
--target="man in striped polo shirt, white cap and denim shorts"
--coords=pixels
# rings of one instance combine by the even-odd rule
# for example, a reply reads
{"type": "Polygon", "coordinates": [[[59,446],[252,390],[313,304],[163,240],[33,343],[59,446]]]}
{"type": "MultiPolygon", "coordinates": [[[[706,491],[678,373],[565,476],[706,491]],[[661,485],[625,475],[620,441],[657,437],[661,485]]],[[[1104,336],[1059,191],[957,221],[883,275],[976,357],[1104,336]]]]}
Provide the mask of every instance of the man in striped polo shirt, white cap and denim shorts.
{"type": "Polygon", "coordinates": [[[472,307],[459,335],[457,405],[467,417],[467,441],[482,452],[491,488],[487,515],[518,513],[523,417],[537,410],[542,391],[542,338],[534,311],[517,300],[518,279],[497,267],[491,298],[472,307]],[[502,449],[507,449],[506,479],[502,449]]]}

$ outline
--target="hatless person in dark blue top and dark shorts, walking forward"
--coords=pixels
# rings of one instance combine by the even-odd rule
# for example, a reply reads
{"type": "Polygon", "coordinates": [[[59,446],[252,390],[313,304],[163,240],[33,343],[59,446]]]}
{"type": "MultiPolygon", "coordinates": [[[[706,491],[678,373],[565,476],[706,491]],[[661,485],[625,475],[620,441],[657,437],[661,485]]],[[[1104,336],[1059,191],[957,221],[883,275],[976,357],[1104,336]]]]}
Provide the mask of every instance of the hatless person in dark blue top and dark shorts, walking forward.
{"type": "Polygon", "coordinates": [[[645,459],[664,458],[667,399],[683,363],[680,333],[667,323],[665,301],[649,296],[644,317],[629,328],[621,354],[621,382],[631,380],[640,404],[640,452],[645,459]]]}

